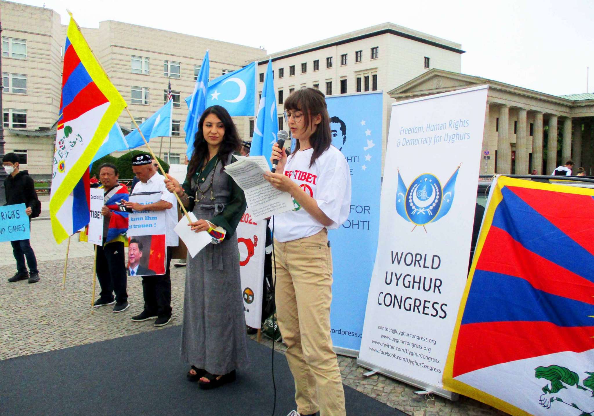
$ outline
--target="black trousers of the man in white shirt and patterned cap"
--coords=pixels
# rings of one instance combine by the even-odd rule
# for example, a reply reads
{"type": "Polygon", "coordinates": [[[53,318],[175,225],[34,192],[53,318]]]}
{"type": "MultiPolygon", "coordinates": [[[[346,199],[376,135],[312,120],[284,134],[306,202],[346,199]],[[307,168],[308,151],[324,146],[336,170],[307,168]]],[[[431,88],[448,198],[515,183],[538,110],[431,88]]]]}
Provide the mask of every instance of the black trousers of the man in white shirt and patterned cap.
{"type": "Polygon", "coordinates": [[[167,247],[165,274],[143,276],[144,310],[151,315],[171,316],[170,269],[172,247],[167,247]]]}

